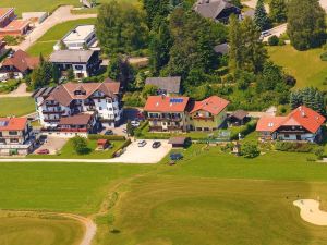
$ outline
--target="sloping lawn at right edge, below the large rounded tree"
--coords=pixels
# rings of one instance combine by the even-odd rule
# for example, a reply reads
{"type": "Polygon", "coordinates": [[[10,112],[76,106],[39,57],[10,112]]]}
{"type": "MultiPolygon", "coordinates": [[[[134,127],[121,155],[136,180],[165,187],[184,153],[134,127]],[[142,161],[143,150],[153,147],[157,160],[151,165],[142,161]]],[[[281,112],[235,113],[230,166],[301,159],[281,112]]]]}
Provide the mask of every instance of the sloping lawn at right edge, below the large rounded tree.
{"type": "Polygon", "coordinates": [[[323,49],[298,51],[290,45],[268,48],[270,59],[284,71],[295,76],[296,87],[315,86],[326,88],[323,82],[327,78],[327,62],[319,56],[323,49]]]}

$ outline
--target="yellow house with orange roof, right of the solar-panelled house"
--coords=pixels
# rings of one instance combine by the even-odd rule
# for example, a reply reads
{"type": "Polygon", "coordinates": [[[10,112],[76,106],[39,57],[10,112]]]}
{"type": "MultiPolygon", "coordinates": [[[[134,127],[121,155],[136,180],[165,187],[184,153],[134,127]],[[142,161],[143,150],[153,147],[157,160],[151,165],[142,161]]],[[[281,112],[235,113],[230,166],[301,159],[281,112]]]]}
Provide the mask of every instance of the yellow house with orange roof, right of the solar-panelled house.
{"type": "Polygon", "coordinates": [[[194,101],[190,108],[190,130],[218,130],[226,122],[228,105],[228,100],[219,98],[218,96],[211,96],[202,101],[194,101]]]}

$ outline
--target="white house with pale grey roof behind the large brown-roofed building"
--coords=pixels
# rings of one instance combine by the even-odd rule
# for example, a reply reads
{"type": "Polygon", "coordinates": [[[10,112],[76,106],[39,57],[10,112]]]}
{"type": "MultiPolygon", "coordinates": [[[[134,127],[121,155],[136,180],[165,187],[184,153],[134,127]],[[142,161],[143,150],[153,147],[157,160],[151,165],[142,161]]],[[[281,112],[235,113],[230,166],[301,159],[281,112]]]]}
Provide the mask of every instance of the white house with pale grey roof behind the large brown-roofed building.
{"type": "Polygon", "coordinates": [[[72,69],[77,78],[95,75],[101,63],[99,52],[94,50],[58,50],[51,53],[49,61],[62,73],[72,69]]]}

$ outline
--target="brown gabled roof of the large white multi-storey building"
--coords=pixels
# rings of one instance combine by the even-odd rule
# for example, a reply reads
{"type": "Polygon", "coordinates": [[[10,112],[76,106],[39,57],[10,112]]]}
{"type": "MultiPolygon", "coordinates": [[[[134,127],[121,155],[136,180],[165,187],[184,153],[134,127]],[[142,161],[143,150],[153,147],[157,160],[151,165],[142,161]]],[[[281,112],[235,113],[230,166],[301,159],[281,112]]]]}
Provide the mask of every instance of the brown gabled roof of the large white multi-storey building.
{"type": "MultiPolygon", "coordinates": [[[[116,93],[119,91],[119,83],[66,83],[56,87],[45,99],[56,100],[62,106],[69,106],[73,99],[87,99],[95,91],[102,91],[110,98],[116,98],[116,93]],[[113,91],[111,90],[113,89],[113,91]],[[75,95],[75,91],[83,91],[81,95],[75,95]]],[[[118,94],[118,93],[117,93],[118,94]]],[[[43,94],[36,93],[36,97],[43,94]]]]}

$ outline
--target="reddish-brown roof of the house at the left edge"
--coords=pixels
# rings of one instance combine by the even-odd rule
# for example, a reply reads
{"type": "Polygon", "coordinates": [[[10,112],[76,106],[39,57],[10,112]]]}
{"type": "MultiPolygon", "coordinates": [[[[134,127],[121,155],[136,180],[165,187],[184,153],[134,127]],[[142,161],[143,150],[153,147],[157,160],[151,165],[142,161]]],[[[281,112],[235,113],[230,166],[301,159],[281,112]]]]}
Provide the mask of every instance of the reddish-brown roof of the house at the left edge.
{"type": "Polygon", "coordinates": [[[12,65],[16,68],[20,72],[25,72],[28,69],[33,70],[39,64],[39,59],[37,57],[29,57],[26,52],[19,49],[12,58],[7,58],[2,65],[12,65]]]}

